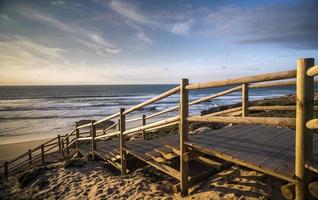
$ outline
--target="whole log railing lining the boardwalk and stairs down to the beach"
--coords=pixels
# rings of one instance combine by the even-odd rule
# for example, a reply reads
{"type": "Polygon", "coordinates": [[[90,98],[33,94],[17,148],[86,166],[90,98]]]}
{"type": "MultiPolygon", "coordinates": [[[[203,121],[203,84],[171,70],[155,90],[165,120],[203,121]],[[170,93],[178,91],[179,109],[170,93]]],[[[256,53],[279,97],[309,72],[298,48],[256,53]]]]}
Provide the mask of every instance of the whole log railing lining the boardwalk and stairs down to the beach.
{"type": "MultiPolygon", "coordinates": [[[[303,199],[304,197],[304,182],[306,181],[305,169],[306,165],[310,165],[310,159],[312,158],[312,135],[310,129],[318,128],[318,119],[313,118],[313,110],[318,110],[314,107],[314,79],[313,76],[318,74],[318,66],[314,66],[313,59],[299,59],[297,61],[297,70],[276,72],[261,74],[256,76],[248,76],[243,78],[228,79],[222,81],[193,83],[189,84],[187,79],[182,79],[180,86],[172,88],[167,92],[164,92],[156,97],[153,97],[145,102],[142,102],[129,109],[120,108],[119,112],[116,112],[110,116],[107,116],[98,121],[92,121],[90,123],[76,126],[75,129],[65,135],[58,136],[52,141],[57,141],[52,144],[51,148],[58,145],[61,152],[66,153],[71,145],[76,144],[76,149],[79,147],[80,141],[91,141],[92,144],[92,156],[95,156],[95,150],[98,148],[97,141],[101,141],[111,137],[118,137],[120,141],[120,157],[121,157],[121,173],[126,174],[126,139],[135,134],[142,134],[142,138],[145,138],[146,132],[154,131],[168,126],[179,124],[180,135],[180,189],[181,194],[186,195],[188,192],[188,163],[185,161],[184,155],[188,153],[186,143],[188,142],[189,134],[189,122],[220,122],[231,124],[262,124],[273,126],[286,126],[296,127],[296,146],[295,146],[295,181],[296,181],[296,197],[297,199],[303,199]],[[296,79],[296,80],[287,80],[296,79]],[[279,86],[296,85],[296,105],[294,106],[250,106],[249,90],[257,88],[269,88],[279,86]],[[219,88],[229,87],[222,92],[211,94],[207,97],[189,101],[189,91],[207,88],[219,88]],[[189,107],[202,102],[210,101],[214,98],[228,95],[230,93],[241,91],[242,93],[242,105],[236,108],[230,108],[227,110],[207,114],[204,116],[190,116],[189,107]],[[164,98],[167,98],[173,94],[179,93],[179,105],[173,106],[166,110],[151,113],[150,115],[142,115],[141,117],[126,119],[126,117],[134,111],[140,110],[145,106],[156,103],[164,98]],[[150,118],[158,117],[171,111],[178,110],[179,114],[174,117],[163,119],[160,121],[146,123],[150,118]],[[296,118],[283,118],[283,117],[252,117],[249,115],[250,111],[255,110],[295,110],[296,118]],[[240,112],[241,116],[226,116],[231,113],[240,112]],[[99,124],[108,121],[116,120],[117,123],[106,129],[97,130],[99,124]],[[128,128],[127,124],[130,122],[141,121],[141,125],[133,128],[128,128]],[[113,130],[118,125],[118,130],[113,130]],[[89,135],[85,135],[89,134],[89,135]],[[84,136],[85,135],[85,136],[84,136]],[[308,164],[309,163],[309,164],[308,164]]],[[[48,145],[48,144],[44,144],[48,145]]],[[[31,153],[42,149],[42,153],[39,154],[44,157],[44,148],[47,146],[42,145],[31,153]]],[[[30,153],[21,155],[20,157],[28,156],[30,153]]],[[[33,155],[33,154],[32,154],[33,155]]],[[[20,159],[18,157],[15,160],[20,159]]],[[[35,156],[36,157],[36,156],[35,156]]],[[[34,157],[34,158],[35,158],[34,157]]],[[[30,159],[34,160],[32,156],[30,159]]],[[[68,155],[65,156],[68,158],[68,155]]],[[[44,160],[44,159],[42,159],[44,160]]],[[[4,165],[5,171],[8,174],[10,170],[8,165],[13,161],[6,162],[4,165]]],[[[44,161],[43,161],[44,163],[44,161]]]]}

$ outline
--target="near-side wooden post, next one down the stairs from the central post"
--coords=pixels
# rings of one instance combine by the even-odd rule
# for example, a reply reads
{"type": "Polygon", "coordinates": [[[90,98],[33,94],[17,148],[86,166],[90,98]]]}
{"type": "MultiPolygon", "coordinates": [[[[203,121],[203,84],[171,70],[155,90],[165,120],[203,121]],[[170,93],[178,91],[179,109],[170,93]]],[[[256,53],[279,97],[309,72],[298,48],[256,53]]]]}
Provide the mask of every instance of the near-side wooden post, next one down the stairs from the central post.
{"type": "Polygon", "coordinates": [[[126,152],[125,152],[125,148],[126,148],[126,138],[125,135],[123,134],[124,131],[126,130],[126,120],[125,120],[125,115],[124,115],[125,109],[121,108],[120,109],[120,135],[119,135],[119,143],[120,143],[120,162],[121,162],[121,175],[125,175],[127,170],[127,166],[126,166],[126,152]]]}

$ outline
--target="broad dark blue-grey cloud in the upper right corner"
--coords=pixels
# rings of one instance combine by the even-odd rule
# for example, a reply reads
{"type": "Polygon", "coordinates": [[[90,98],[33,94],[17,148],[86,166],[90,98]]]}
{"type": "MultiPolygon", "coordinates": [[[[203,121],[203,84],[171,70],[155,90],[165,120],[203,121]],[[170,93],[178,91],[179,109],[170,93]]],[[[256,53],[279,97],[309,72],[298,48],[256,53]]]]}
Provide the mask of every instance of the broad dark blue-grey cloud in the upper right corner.
{"type": "Polygon", "coordinates": [[[239,43],[274,43],[300,49],[318,48],[317,1],[246,7],[223,6],[206,17],[205,32],[239,43]]]}

